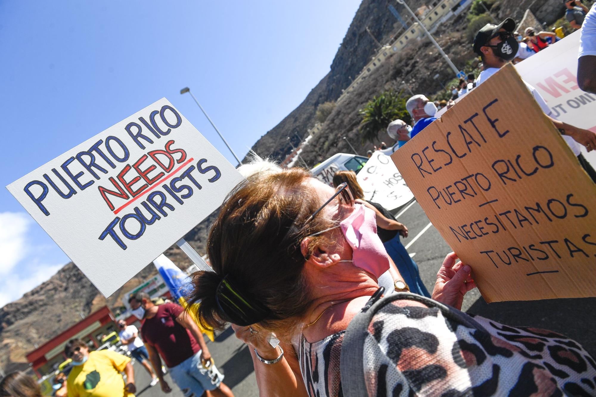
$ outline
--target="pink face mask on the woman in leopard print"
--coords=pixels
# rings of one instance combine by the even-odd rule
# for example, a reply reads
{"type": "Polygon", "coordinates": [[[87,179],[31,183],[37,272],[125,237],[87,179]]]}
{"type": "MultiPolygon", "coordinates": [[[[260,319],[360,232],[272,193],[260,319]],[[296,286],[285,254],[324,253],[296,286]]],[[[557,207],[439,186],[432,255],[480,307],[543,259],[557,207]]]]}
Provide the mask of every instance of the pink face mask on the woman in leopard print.
{"type": "Polygon", "coordinates": [[[375,212],[355,204],[352,214],[340,222],[343,235],[352,247],[352,262],[375,277],[389,270],[387,251],[377,235],[375,212]]]}

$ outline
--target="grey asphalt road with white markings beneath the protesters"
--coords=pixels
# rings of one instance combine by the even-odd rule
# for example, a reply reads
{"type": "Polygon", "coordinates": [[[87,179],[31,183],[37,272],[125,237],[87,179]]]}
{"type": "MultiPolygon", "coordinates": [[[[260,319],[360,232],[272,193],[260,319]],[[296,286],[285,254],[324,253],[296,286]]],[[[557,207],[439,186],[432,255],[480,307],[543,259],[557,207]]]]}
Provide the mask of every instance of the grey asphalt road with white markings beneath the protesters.
{"type": "MultiPolygon", "coordinates": [[[[405,206],[407,207],[407,206],[405,206]]],[[[405,209],[405,207],[403,209],[405,209]]],[[[402,209],[402,211],[403,211],[402,209]]],[[[402,239],[408,252],[420,268],[420,275],[429,291],[434,286],[437,270],[451,252],[451,248],[440,236],[417,202],[413,202],[398,218],[409,229],[409,237],[402,239]]],[[[507,288],[506,285],[503,286],[507,288]]],[[[462,310],[491,318],[511,326],[528,326],[550,329],[572,337],[596,357],[596,298],[551,299],[529,302],[497,302],[487,304],[478,290],[472,290],[464,298],[462,310]]],[[[209,351],[216,365],[225,374],[224,383],[232,388],[236,396],[258,396],[252,360],[247,346],[240,343],[231,329],[225,330],[215,342],[209,343],[209,351]]],[[[144,368],[135,364],[137,396],[163,395],[159,385],[147,388],[149,376],[144,368]]],[[[182,397],[181,391],[170,382],[172,396],[182,397]]]]}

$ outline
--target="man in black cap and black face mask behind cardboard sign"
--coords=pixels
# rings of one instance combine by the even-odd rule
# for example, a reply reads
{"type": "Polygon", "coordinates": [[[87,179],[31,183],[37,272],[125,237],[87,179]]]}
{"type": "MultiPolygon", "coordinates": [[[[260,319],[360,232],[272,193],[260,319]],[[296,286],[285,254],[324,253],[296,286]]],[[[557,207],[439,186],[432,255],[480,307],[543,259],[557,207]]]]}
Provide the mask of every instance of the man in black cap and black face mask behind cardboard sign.
{"type": "MultiPolygon", "coordinates": [[[[519,43],[517,43],[517,39],[513,34],[515,29],[516,22],[512,18],[507,18],[498,25],[488,23],[476,33],[473,49],[476,54],[480,55],[484,64],[483,71],[480,72],[476,79],[476,86],[481,85],[486,79],[516,57],[519,43]]],[[[534,87],[526,82],[524,83],[536,102],[538,102],[538,105],[542,108],[542,111],[551,119],[561,135],[563,135],[563,139],[578,157],[583,169],[596,183],[596,171],[583,157],[578,145],[578,143],[584,145],[588,152],[596,149],[596,133],[552,118],[551,108],[548,107],[544,98],[542,98],[534,87]]]]}

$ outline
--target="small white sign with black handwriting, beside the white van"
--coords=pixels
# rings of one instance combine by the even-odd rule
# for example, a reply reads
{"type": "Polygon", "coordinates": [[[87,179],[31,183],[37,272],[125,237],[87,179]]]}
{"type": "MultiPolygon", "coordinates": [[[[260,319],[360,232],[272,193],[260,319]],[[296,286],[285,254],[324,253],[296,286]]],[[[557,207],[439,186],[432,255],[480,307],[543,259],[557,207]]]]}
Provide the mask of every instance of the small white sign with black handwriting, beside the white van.
{"type": "Polygon", "coordinates": [[[356,176],[362,187],[364,198],[383,205],[387,210],[395,210],[406,204],[414,193],[406,185],[391,158],[376,151],[356,176]]]}

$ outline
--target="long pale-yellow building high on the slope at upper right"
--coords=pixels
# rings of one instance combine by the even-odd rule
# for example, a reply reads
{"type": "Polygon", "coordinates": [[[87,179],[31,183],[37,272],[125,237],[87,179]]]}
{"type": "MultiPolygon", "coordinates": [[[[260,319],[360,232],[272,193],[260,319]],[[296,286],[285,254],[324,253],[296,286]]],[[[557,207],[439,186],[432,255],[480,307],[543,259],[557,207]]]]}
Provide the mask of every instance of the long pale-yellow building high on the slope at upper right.
{"type": "MultiPolygon", "coordinates": [[[[472,3],[473,0],[434,0],[428,5],[423,5],[416,10],[418,20],[426,27],[430,33],[436,32],[440,24],[449,20],[455,15],[461,14],[465,8],[472,3]]],[[[362,71],[356,76],[356,79],[344,90],[342,95],[337,98],[337,102],[342,101],[358,87],[368,75],[377,68],[381,62],[395,52],[402,51],[406,46],[411,45],[415,40],[420,40],[424,36],[424,30],[420,27],[418,22],[415,22],[414,17],[405,18],[405,23],[408,28],[403,26],[399,28],[398,32],[393,37],[398,37],[390,45],[386,45],[380,49],[379,52],[371,59],[368,64],[362,68],[362,71]]]]}

